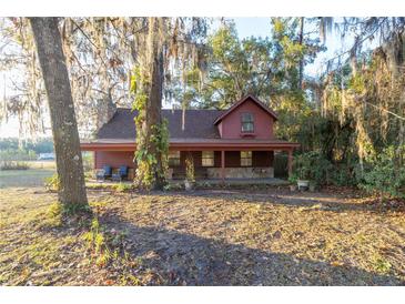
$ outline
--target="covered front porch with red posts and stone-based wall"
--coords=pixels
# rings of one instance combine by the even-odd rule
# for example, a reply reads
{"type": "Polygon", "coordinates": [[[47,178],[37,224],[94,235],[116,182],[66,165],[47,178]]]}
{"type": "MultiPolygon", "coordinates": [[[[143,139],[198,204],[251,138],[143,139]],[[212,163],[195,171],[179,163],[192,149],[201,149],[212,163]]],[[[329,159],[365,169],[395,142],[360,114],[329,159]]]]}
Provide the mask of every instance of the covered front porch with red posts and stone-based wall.
{"type": "MultiPolygon", "coordinates": [[[[192,158],[195,179],[222,183],[271,181],[274,179],[274,152],[287,154],[287,172],[292,173],[293,150],[298,144],[276,140],[175,140],[170,142],[169,179],[185,178],[185,159],[192,158]]],[[[133,141],[97,141],[81,143],[84,151],[94,152],[94,169],[103,165],[135,168],[133,141]]]]}

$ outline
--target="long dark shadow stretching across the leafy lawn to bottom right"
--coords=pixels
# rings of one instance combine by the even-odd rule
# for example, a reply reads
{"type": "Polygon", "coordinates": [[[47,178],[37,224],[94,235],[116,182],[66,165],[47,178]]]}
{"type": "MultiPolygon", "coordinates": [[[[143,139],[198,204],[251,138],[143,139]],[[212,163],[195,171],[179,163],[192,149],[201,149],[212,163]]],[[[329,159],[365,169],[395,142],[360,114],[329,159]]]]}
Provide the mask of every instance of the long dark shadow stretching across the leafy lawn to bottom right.
{"type": "Polygon", "coordinates": [[[126,231],[131,255],[165,285],[403,285],[395,276],[250,249],[159,226],[136,226],[108,212],[101,223],[126,231]]]}

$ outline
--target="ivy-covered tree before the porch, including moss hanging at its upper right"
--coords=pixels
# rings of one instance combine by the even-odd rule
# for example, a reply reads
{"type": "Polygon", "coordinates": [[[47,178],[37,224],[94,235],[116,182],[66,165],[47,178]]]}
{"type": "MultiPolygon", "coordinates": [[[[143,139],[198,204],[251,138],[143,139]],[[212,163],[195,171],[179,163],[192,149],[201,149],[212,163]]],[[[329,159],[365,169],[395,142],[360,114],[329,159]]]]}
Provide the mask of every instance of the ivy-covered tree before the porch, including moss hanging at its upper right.
{"type": "MultiPolygon", "coordinates": [[[[204,58],[201,54],[206,37],[206,22],[202,18],[155,18],[148,19],[148,33],[143,37],[139,69],[132,79],[135,93],[133,108],[136,116],[136,184],[145,189],[161,190],[165,184],[168,170],[168,129],[162,119],[162,98],[171,99],[173,84],[170,65],[181,65],[183,75],[188,68],[200,69],[204,58]]],[[[184,78],[180,83],[184,84],[184,78]]],[[[185,107],[183,103],[182,105],[185,107]]],[[[184,112],[183,112],[184,113],[184,112]]],[[[183,114],[184,118],[184,114],[183,114]]],[[[184,123],[183,123],[184,125],[184,123]]]]}

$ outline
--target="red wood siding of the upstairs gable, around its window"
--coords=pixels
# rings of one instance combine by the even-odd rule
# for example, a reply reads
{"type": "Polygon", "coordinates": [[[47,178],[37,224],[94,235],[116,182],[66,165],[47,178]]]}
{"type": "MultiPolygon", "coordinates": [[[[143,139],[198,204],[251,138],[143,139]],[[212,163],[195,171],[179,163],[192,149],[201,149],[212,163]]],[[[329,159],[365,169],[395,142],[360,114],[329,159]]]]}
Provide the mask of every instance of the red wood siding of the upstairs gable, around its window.
{"type": "Polygon", "coordinates": [[[254,116],[255,139],[273,139],[274,119],[269,115],[252,100],[246,100],[233,112],[223,119],[219,124],[219,131],[223,139],[241,139],[241,115],[242,113],[252,113],[254,116]]]}

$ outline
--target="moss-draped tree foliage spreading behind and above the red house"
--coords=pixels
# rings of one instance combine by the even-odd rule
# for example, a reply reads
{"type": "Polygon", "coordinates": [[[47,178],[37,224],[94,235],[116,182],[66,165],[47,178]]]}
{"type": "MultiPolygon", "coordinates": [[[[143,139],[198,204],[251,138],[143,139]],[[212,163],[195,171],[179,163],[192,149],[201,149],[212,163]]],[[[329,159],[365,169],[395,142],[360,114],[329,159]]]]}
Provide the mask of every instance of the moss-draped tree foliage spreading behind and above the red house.
{"type": "MultiPolygon", "coordinates": [[[[279,113],[277,138],[300,142],[298,153],[316,152],[345,172],[341,181],[361,181],[387,146],[403,164],[404,18],[270,18],[266,38],[244,39],[232,20],[217,20],[216,28],[211,21],[159,18],[159,52],[153,53],[162,55],[160,103],[226,109],[252,93],[279,113]],[[308,75],[306,67],[331,39],[348,48],[328,58],[321,74],[308,75]]],[[[145,60],[150,22],[59,20],[82,136],[90,136],[115,107],[142,95],[145,83],[134,89],[133,80],[140,71],[151,75],[145,60]]],[[[27,19],[1,19],[0,48],[0,69],[18,74],[0,118],[17,114],[21,128],[41,131],[44,87],[27,19]]]]}

